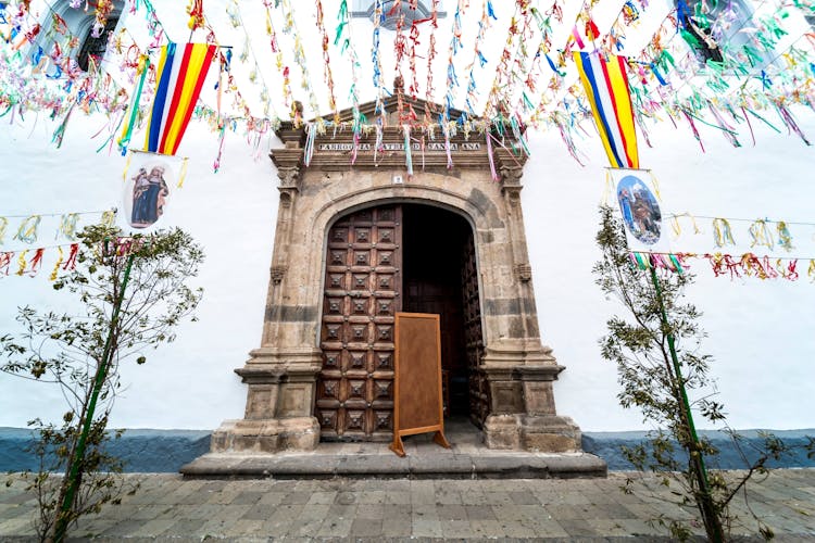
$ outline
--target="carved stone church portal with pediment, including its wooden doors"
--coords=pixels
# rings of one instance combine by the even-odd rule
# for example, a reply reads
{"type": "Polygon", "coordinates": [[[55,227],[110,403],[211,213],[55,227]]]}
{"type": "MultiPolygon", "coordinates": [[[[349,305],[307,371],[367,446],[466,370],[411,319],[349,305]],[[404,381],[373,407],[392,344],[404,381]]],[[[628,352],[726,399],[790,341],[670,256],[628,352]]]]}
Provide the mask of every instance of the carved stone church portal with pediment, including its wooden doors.
{"type": "Polygon", "coordinates": [[[411,134],[405,169],[404,100],[339,116],[351,126],[384,114],[376,131],[276,131],[280,200],[261,344],[236,369],[248,389],[243,418],[224,421],[213,452],[390,441],[400,310],[451,315],[450,412],[474,420],[488,447],[580,450],[580,429],[555,409],[564,368],[538,329],[517,135],[451,112],[461,129],[411,134]]]}

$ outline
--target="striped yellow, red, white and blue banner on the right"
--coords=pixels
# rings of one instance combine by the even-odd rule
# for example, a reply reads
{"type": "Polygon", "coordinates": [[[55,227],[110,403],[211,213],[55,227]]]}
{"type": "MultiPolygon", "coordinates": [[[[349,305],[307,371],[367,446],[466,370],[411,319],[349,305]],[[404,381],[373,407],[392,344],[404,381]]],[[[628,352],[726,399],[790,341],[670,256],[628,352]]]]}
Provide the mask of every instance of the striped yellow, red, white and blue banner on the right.
{"type": "Polygon", "coordinates": [[[606,61],[597,52],[582,51],[575,52],[574,58],[609,162],[615,168],[638,168],[637,134],[625,58],[609,55],[606,61]]]}

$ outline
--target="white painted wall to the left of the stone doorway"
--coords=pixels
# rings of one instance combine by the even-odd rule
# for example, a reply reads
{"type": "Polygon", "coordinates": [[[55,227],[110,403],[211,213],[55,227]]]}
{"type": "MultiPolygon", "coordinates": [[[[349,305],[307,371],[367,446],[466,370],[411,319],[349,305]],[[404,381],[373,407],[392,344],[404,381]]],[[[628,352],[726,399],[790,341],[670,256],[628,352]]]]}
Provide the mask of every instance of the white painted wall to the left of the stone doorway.
{"type": "MultiPolygon", "coordinates": [[[[5,121],[0,130],[0,215],[76,212],[122,207],[125,159],[109,156],[90,140],[105,122],[101,116],[77,116],[68,124],[62,149],[50,143],[54,124],[42,115],[26,123],[5,121]],[[35,126],[36,124],[36,126],[35,126]]],[[[127,364],[112,424],[128,428],[215,428],[224,418],[240,418],[246,390],[233,368],[241,367],[248,351],[260,345],[266,281],[277,213],[277,176],[240,135],[228,132],[223,169],[212,173],[217,138],[193,122],[179,149],[190,157],[185,187],[171,187],[164,218],[187,229],[205,250],[206,261],[193,281],[205,289],[199,323],[185,324],[174,344],[145,353],[145,366],[127,364]]],[[[9,230],[16,230],[11,220],[9,230]]],[[[55,222],[43,219],[34,247],[53,244],[55,222]]],[[[7,236],[2,250],[23,247],[7,236]]],[[[48,281],[55,253],[36,277],[0,278],[0,333],[16,329],[16,307],[50,308],[62,293],[48,281]]],[[[59,418],[61,396],[39,383],[0,375],[0,426],[22,427],[40,416],[59,418]]]]}

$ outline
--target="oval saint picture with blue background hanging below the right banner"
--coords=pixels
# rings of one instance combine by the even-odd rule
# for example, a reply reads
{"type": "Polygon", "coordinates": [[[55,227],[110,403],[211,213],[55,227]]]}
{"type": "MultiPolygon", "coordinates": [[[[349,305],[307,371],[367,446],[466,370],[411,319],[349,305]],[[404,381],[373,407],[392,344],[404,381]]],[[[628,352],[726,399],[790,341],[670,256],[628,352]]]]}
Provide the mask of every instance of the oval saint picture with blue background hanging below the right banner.
{"type": "Polygon", "coordinates": [[[637,176],[627,175],[617,184],[617,201],[628,231],[641,243],[660,241],[662,213],[651,189],[637,176]]]}

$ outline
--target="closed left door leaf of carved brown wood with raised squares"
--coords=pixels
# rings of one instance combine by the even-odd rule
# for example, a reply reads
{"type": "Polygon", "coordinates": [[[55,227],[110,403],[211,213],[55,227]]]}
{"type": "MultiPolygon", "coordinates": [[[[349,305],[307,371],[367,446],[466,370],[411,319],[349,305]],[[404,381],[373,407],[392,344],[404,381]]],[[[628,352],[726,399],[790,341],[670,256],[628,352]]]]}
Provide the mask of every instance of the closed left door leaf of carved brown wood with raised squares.
{"type": "Polygon", "coordinates": [[[401,207],[362,210],[328,232],[315,416],[324,439],[390,441],[401,207]]]}

